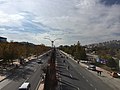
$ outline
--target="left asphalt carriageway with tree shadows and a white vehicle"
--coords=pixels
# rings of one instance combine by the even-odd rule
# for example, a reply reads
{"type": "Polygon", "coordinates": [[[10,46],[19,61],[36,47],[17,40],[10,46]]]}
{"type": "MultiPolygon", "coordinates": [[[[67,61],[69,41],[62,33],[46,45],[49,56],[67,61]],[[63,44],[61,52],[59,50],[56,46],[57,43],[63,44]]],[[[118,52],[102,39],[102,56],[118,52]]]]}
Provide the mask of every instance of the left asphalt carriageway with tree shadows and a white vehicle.
{"type": "Polygon", "coordinates": [[[49,58],[49,56],[43,55],[39,57],[43,64],[38,64],[37,60],[31,60],[26,66],[17,69],[12,76],[0,83],[0,90],[18,90],[25,81],[30,82],[31,90],[36,90],[43,73],[42,68],[47,64],[49,58]]]}

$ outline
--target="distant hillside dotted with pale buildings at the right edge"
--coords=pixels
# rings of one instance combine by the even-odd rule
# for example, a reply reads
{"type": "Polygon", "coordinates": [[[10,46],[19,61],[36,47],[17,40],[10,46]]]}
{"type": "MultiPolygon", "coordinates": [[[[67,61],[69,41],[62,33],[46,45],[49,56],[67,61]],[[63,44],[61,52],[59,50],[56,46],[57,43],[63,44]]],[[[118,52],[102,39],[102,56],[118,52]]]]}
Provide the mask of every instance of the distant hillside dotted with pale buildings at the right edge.
{"type": "Polygon", "coordinates": [[[99,56],[112,56],[120,59],[120,40],[106,41],[85,46],[87,53],[99,56]]]}

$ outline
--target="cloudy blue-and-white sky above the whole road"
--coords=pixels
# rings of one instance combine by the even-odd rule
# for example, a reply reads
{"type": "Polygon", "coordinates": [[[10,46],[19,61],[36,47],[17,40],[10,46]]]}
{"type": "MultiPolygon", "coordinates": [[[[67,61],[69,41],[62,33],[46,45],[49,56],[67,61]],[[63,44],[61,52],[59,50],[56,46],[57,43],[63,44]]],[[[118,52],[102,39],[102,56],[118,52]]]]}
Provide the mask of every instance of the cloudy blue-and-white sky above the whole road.
{"type": "Polygon", "coordinates": [[[56,46],[120,40],[120,0],[0,0],[0,36],[56,46]]]}

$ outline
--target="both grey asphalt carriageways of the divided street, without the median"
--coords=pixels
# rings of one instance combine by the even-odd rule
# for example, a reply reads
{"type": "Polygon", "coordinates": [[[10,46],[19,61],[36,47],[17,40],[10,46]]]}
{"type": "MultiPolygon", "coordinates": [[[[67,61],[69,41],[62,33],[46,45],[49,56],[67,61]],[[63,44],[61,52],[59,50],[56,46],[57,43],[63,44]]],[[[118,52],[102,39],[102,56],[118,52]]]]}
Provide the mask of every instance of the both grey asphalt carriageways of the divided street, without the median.
{"type": "MultiPolygon", "coordinates": [[[[38,59],[28,62],[26,66],[20,67],[12,76],[0,82],[0,90],[18,90],[25,81],[30,82],[31,90],[38,90],[42,69],[48,64],[50,56],[45,54],[38,59]],[[42,60],[43,64],[38,64],[38,59],[42,60]]],[[[56,90],[116,90],[60,50],[56,51],[56,72],[56,90]]]]}

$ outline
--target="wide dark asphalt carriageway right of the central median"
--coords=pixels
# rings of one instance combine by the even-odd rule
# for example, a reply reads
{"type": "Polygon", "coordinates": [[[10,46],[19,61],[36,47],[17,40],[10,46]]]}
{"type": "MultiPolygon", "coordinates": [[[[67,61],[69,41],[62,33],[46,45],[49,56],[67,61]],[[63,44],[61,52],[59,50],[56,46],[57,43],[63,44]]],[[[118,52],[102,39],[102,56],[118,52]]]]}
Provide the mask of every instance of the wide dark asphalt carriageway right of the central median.
{"type": "Polygon", "coordinates": [[[57,51],[56,60],[60,90],[113,90],[87,69],[66,57],[57,51]]]}

